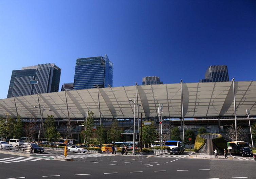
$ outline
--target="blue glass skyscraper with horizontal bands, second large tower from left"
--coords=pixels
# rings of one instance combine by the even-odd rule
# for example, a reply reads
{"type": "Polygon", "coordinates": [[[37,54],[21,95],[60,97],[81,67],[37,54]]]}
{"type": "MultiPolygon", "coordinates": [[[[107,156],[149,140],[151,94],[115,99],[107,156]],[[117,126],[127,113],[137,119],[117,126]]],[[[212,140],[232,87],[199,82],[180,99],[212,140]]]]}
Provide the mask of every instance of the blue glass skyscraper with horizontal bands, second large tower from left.
{"type": "Polygon", "coordinates": [[[76,59],[74,90],[113,86],[113,63],[104,57],[76,59]]]}

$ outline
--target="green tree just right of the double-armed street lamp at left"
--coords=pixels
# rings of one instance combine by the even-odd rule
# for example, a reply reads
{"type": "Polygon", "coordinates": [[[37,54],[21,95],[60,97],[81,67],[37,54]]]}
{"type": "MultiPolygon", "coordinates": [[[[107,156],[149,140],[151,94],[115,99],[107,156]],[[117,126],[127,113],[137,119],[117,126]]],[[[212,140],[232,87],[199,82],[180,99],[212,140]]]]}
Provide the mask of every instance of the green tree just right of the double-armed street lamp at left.
{"type": "Polygon", "coordinates": [[[44,135],[49,142],[54,142],[57,138],[60,138],[60,133],[55,127],[55,120],[52,115],[47,115],[47,119],[44,122],[44,135]]]}

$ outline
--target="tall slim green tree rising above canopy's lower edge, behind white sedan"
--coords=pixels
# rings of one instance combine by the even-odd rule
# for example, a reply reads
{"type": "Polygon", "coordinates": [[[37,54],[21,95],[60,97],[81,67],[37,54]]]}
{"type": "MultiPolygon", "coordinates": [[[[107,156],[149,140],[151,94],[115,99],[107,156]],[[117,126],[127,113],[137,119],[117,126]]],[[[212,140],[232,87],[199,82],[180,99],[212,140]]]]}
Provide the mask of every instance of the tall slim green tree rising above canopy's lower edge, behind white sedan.
{"type": "Polygon", "coordinates": [[[84,143],[88,143],[90,141],[90,138],[93,135],[93,129],[94,126],[94,117],[93,112],[88,111],[88,117],[86,118],[86,121],[84,122],[84,131],[81,132],[81,134],[84,136],[84,143]]]}

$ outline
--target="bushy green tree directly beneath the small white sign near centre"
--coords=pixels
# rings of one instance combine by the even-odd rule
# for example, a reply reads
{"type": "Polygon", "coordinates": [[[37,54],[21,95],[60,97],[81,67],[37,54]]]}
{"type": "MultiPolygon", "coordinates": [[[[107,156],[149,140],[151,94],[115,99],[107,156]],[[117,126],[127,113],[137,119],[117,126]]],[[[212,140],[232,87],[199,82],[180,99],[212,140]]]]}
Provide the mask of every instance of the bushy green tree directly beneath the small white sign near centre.
{"type": "Polygon", "coordinates": [[[149,122],[151,122],[151,125],[142,125],[142,141],[145,142],[148,147],[150,147],[150,144],[154,143],[158,137],[156,126],[154,125],[153,121],[149,122]]]}

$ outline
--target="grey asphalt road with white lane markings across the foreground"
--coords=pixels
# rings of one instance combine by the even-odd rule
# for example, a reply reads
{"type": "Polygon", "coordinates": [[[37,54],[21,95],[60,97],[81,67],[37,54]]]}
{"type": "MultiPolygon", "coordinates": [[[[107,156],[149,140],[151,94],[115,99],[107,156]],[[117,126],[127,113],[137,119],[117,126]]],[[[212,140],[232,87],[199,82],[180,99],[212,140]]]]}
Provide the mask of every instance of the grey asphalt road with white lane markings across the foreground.
{"type": "MultiPolygon", "coordinates": [[[[73,155],[72,153],[69,156],[73,155]]],[[[0,154],[0,179],[10,178],[237,178],[255,179],[256,162],[79,154],[74,161],[0,154]],[[79,156],[80,157],[77,157],[79,156]],[[13,158],[12,158],[13,157],[13,158]],[[19,158],[21,157],[21,158],[19,158]],[[5,159],[3,159],[5,158],[5,159]],[[8,160],[16,162],[8,162],[8,160]],[[45,160],[47,159],[47,160],[45,160]],[[24,161],[26,162],[24,162],[24,161]]]]}

